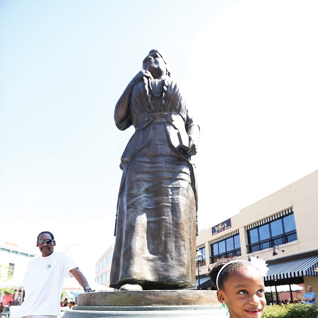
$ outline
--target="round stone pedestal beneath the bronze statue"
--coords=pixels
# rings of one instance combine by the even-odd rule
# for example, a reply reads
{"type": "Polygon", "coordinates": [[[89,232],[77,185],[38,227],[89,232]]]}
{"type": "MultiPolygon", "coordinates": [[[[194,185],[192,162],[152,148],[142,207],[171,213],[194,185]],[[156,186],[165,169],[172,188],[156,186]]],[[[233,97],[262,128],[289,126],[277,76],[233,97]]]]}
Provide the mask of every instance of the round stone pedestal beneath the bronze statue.
{"type": "Polygon", "coordinates": [[[144,290],[83,293],[65,318],[225,318],[212,290],[144,290]]]}

